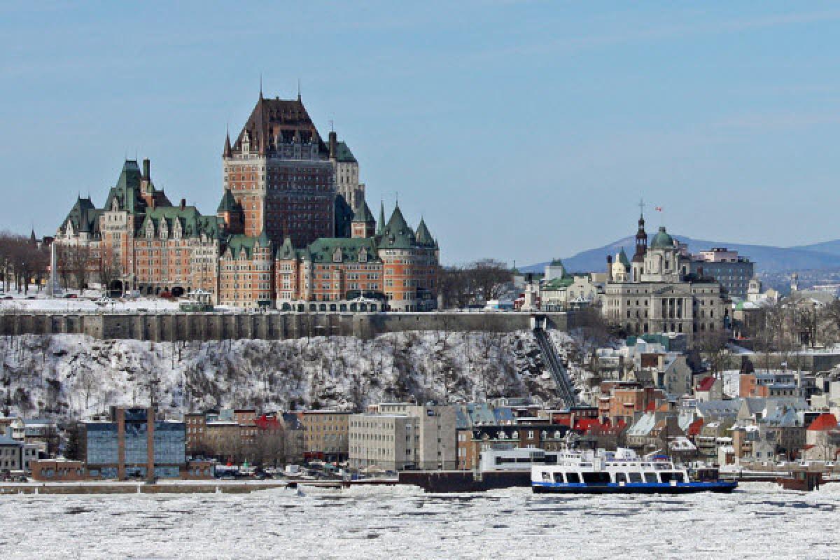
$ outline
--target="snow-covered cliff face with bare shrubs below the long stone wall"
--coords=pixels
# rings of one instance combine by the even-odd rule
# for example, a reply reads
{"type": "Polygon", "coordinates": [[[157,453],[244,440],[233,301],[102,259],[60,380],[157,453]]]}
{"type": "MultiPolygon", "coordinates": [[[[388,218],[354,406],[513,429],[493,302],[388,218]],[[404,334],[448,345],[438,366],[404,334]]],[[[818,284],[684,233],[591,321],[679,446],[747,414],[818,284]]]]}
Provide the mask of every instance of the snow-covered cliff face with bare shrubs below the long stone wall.
{"type": "Polygon", "coordinates": [[[85,416],[110,405],[361,410],[381,401],[550,400],[533,334],[399,332],[284,341],[148,343],[84,335],[0,339],[0,412],[85,416]],[[153,389],[150,389],[153,388],[153,389]]]}

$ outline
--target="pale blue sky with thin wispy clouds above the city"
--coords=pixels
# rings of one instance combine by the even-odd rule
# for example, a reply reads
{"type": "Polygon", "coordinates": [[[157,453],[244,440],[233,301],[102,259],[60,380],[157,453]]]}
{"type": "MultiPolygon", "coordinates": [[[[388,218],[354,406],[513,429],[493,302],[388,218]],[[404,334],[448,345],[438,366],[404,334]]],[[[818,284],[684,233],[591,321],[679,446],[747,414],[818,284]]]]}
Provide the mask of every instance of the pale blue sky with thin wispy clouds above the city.
{"type": "Polygon", "coordinates": [[[832,2],[0,3],[0,229],[55,233],[126,156],[213,213],[262,76],[444,264],[610,243],[640,198],[694,238],[840,238],[838,47],[832,2]]]}

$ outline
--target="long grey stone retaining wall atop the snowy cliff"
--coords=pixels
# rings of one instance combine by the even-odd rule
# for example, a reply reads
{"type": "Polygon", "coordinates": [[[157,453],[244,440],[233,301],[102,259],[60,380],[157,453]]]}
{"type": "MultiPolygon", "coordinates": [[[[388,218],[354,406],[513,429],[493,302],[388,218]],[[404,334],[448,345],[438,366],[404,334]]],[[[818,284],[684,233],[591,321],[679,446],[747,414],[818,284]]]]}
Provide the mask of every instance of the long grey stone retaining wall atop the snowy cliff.
{"type": "Polygon", "coordinates": [[[281,340],[328,335],[375,337],[401,331],[497,331],[533,327],[566,330],[571,315],[562,312],[437,313],[66,313],[0,314],[0,335],[87,334],[93,338],[191,341],[227,338],[281,340]]]}

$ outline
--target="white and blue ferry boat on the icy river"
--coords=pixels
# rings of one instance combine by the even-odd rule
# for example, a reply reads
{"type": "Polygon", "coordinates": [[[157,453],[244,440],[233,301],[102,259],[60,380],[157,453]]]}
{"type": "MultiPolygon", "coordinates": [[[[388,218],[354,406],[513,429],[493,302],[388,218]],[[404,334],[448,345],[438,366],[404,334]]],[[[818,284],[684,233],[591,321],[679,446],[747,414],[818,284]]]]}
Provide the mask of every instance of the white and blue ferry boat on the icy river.
{"type": "Polygon", "coordinates": [[[737,482],[718,478],[717,469],[692,472],[665,456],[639,457],[632,449],[565,451],[556,465],[534,465],[531,488],[537,493],[684,494],[732,492],[737,482]]]}

